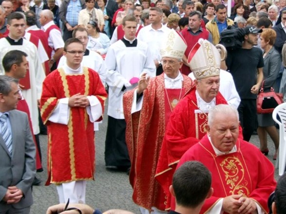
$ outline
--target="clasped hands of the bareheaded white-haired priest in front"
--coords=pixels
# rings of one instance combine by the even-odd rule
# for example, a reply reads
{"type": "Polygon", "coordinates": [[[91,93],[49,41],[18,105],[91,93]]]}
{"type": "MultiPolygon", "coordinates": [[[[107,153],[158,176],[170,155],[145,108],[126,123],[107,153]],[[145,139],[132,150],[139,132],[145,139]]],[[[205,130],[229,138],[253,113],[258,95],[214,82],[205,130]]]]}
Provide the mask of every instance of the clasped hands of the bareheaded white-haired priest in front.
{"type": "Polygon", "coordinates": [[[243,194],[225,197],[222,202],[222,210],[229,214],[257,214],[254,200],[243,196],[243,194]]]}

